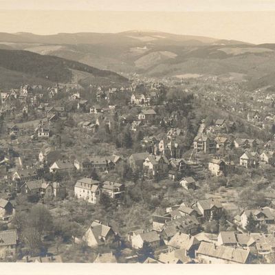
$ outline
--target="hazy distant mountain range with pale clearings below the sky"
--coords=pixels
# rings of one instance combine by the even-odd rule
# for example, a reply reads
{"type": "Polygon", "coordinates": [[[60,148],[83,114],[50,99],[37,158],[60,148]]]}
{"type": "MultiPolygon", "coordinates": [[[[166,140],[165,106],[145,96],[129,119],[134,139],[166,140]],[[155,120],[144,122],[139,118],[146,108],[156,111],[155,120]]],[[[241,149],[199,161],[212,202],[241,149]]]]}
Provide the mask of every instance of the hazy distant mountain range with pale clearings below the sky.
{"type": "Polygon", "coordinates": [[[130,30],[117,34],[0,34],[0,49],[26,50],[129,76],[238,75],[251,89],[274,85],[275,44],[130,30]]]}

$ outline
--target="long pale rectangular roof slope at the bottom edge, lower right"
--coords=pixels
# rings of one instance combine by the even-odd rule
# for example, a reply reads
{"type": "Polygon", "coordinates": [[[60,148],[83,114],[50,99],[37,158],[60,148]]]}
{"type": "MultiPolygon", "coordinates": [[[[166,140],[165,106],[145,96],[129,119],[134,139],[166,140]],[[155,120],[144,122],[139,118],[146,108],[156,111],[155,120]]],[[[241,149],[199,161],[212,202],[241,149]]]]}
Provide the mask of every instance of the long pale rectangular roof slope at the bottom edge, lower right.
{"type": "Polygon", "coordinates": [[[215,245],[214,243],[202,241],[197,250],[197,254],[232,261],[234,263],[246,263],[250,252],[240,248],[230,248],[228,246],[215,245]]]}

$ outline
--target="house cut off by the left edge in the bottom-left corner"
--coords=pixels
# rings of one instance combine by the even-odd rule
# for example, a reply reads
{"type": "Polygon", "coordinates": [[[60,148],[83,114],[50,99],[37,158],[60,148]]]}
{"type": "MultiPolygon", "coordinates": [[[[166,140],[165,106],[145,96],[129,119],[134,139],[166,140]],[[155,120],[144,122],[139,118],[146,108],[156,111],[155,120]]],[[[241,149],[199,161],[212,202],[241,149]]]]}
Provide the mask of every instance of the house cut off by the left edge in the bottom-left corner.
{"type": "Polygon", "coordinates": [[[0,259],[16,256],[17,239],[17,230],[0,231],[0,259]]]}

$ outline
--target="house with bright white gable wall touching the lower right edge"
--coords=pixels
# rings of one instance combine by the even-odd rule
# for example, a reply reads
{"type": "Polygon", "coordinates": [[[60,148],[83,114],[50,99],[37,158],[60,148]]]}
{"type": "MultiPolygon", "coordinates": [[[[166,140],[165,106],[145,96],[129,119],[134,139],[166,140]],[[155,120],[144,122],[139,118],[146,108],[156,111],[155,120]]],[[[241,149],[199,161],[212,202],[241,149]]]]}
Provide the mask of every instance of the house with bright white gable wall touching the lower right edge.
{"type": "Polygon", "coordinates": [[[256,225],[259,227],[263,224],[273,224],[275,220],[274,215],[268,208],[243,210],[243,212],[240,214],[241,221],[239,225],[244,229],[248,224],[248,217],[250,217],[250,214],[252,214],[256,225]]]}

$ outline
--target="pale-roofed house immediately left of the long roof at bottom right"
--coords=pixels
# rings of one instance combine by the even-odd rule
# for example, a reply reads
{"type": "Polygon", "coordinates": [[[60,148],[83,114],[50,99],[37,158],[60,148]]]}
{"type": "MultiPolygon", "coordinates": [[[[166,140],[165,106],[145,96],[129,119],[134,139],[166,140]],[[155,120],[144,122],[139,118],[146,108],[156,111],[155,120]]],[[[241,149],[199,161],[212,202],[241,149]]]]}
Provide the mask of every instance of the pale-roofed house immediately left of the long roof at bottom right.
{"type": "Polygon", "coordinates": [[[175,234],[170,241],[168,241],[167,246],[169,252],[184,249],[186,250],[187,256],[195,258],[195,250],[199,248],[199,241],[195,238],[195,236],[177,232],[177,234],[175,234]]]}

